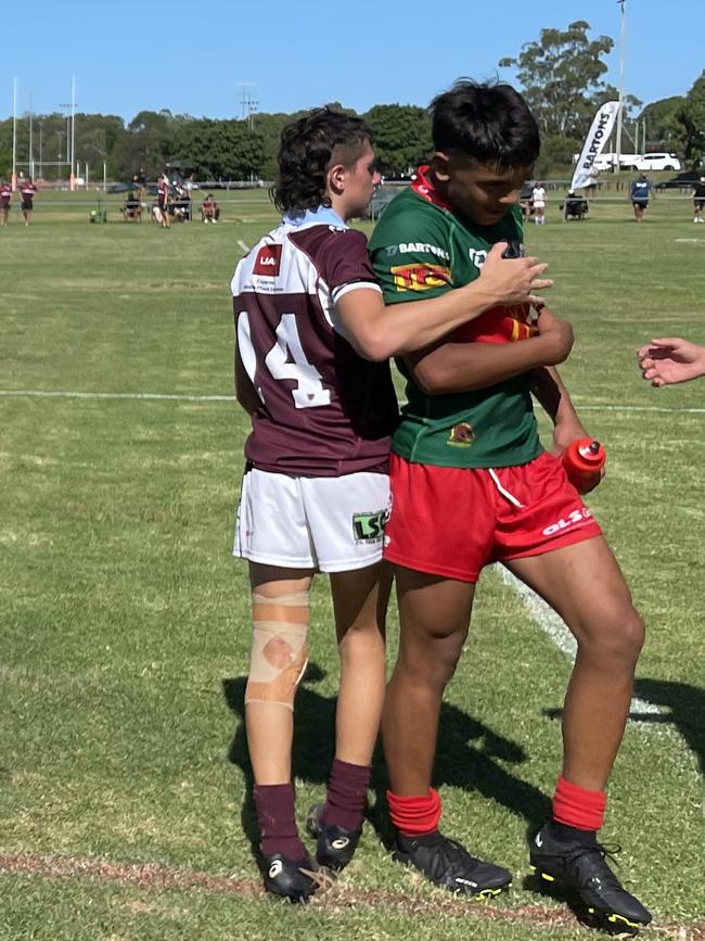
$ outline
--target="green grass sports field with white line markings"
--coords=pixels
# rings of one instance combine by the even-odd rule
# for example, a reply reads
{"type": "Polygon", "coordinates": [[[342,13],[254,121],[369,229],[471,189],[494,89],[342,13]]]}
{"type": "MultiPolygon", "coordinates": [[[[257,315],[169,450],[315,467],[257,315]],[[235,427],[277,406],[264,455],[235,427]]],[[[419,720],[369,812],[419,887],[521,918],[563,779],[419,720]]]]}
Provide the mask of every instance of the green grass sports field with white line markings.
{"type": "MultiPolygon", "coordinates": [[[[445,829],[511,868],[511,893],[465,903],[396,866],[379,762],[337,886],[304,908],[261,894],[242,727],[248,590],[230,558],[247,423],[228,398],[229,280],[274,214],[264,192],[233,193],[221,225],[163,231],[116,221],[113,202],[107,225],[89,225],[86,194],[42,194],[33,226],[13,214],[0,229],[0,939],[590,937],[538,893],[525,848],[559,770],[571,662],[493,570],[444,707],[436,783],[445,829]]],[[[705,342],[705,232],[690,207],[657,200],[638,226],[605,199],[560,224],[553,202],[526,233],[575,325],[562,371],[610,456],[589,500],[649,628],[604,837],[624,847],[619,875],[654,910],[654,939],[705,938],[705,384],[651,390],[634,358],[653,335],[705,342]]],[[[395,637],[393,610],[390,658],[395,637]]],[[[332,751],[323,578],[311,648],[302,817],[332,751]]]]}

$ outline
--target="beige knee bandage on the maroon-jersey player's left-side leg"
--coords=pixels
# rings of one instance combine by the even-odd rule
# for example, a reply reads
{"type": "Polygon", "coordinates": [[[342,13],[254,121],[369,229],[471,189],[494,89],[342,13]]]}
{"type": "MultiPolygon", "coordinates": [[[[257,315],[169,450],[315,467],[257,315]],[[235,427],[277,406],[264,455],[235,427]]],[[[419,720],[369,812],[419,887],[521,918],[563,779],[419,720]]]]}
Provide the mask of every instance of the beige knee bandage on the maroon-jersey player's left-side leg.
{"type": "Polygon", "coordinates": [[[253,644],[245,689],[248,702],[294,709],[308,662],[308,592],[268,598],[253,592],[253,644]]]}

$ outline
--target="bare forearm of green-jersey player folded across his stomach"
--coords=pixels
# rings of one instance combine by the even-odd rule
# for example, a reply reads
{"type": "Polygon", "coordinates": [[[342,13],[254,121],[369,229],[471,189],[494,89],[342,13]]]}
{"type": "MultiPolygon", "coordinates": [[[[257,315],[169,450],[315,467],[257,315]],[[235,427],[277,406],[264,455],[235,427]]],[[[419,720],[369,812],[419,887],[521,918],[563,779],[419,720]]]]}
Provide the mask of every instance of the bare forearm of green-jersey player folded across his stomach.
{"type": "Polygon", "coordinates": [[[414,382],[426,395],[473,392],[522,372],[562,363],[573,346],[571,325],[546,308],[538,334],[516,343],[443,343],[405,357],[414,382]]]}

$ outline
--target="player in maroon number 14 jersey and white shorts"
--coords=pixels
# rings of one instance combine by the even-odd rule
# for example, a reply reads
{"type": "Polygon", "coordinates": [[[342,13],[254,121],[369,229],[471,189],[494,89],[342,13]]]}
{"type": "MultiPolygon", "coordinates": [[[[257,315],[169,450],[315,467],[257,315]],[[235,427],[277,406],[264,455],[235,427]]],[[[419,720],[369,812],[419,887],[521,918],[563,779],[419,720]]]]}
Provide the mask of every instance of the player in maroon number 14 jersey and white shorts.
{"type": "MultiPolygon", "coordinates": [[[[316,889],[316,864],[296,826],[291,751],[317,572],[330,574],[341,681],[326,800],[308,829],[317,863],[331,869],[360,837],[384,699],[382,534],[398,420],[386,360],[497,304],[536,300],[552,282],[536,258],[505,260],[497,246],[473,284],[385,310],[367,240],[347,225],[379,180],[367,126],[317,109],[284,128],[278,160],[283,220],[232,279],[235,386],[253,424],[233,555],[248,561],[252,587],[245,725],[259,864],[267,891],[302,901],[316,889]]],[[[433,278],[443,278],[436,260],[433,278]]],[[[555,332],[531,341],[537,356],[553,355],[555,332]]]]}

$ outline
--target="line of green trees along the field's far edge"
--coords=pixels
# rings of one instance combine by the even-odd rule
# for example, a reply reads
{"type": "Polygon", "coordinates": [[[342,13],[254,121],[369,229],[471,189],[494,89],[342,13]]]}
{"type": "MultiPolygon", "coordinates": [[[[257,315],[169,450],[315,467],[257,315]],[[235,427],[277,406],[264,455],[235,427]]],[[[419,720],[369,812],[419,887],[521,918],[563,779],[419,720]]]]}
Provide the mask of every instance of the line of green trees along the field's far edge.
{"type": "MultiPolygon", "coordinates": [[[[518,86],[541,130],[537,175],[564,174],[582,143],[590,122],[617,89],[603,80],[604,58],[614,41],[591,38],[585,21],[566,29],[541,29],[514,56],[501,59],[500,69],[518,86]]],[[[637,116],[642,102],[626,96],[627,115],[637,116]]],[[[349,113],[339,103],[331,106],[349,113]]],[[[203,180],[272,179],[282,128],[305,112],[254,114],[244,119],[197,118],[170,111],[141,111],[125,123],[117,115],[76,114],[75,157],[88,164],[91,176],[130,180],[139,167],[155,179],[167,163],[183,161],[203,180]]],[[[408,174],[433,152],[431,118],[424,107],[377,104],[360,115],[371,127],[381,171],[388,177],[408,174]]],[[[705,72],[688,94],[653,102],[638,115],[646,120],[649,139],[657,149],[668,147],[695,166],[705,155],[705,72]]],[[[47,179],[66,177],[66,117],[61,114],[24,115],[17,123],[17,161],[41,161],[47,179]],[[30,131],[31,125],[31,131],[30,131]],[[30,140],[31,136],[31,140],[30,140]],[[51,166],[62,162],[64,166],[51,166]]],[[[12,165],[12,118],[0,122],[0,174],[12,165]]]]}

